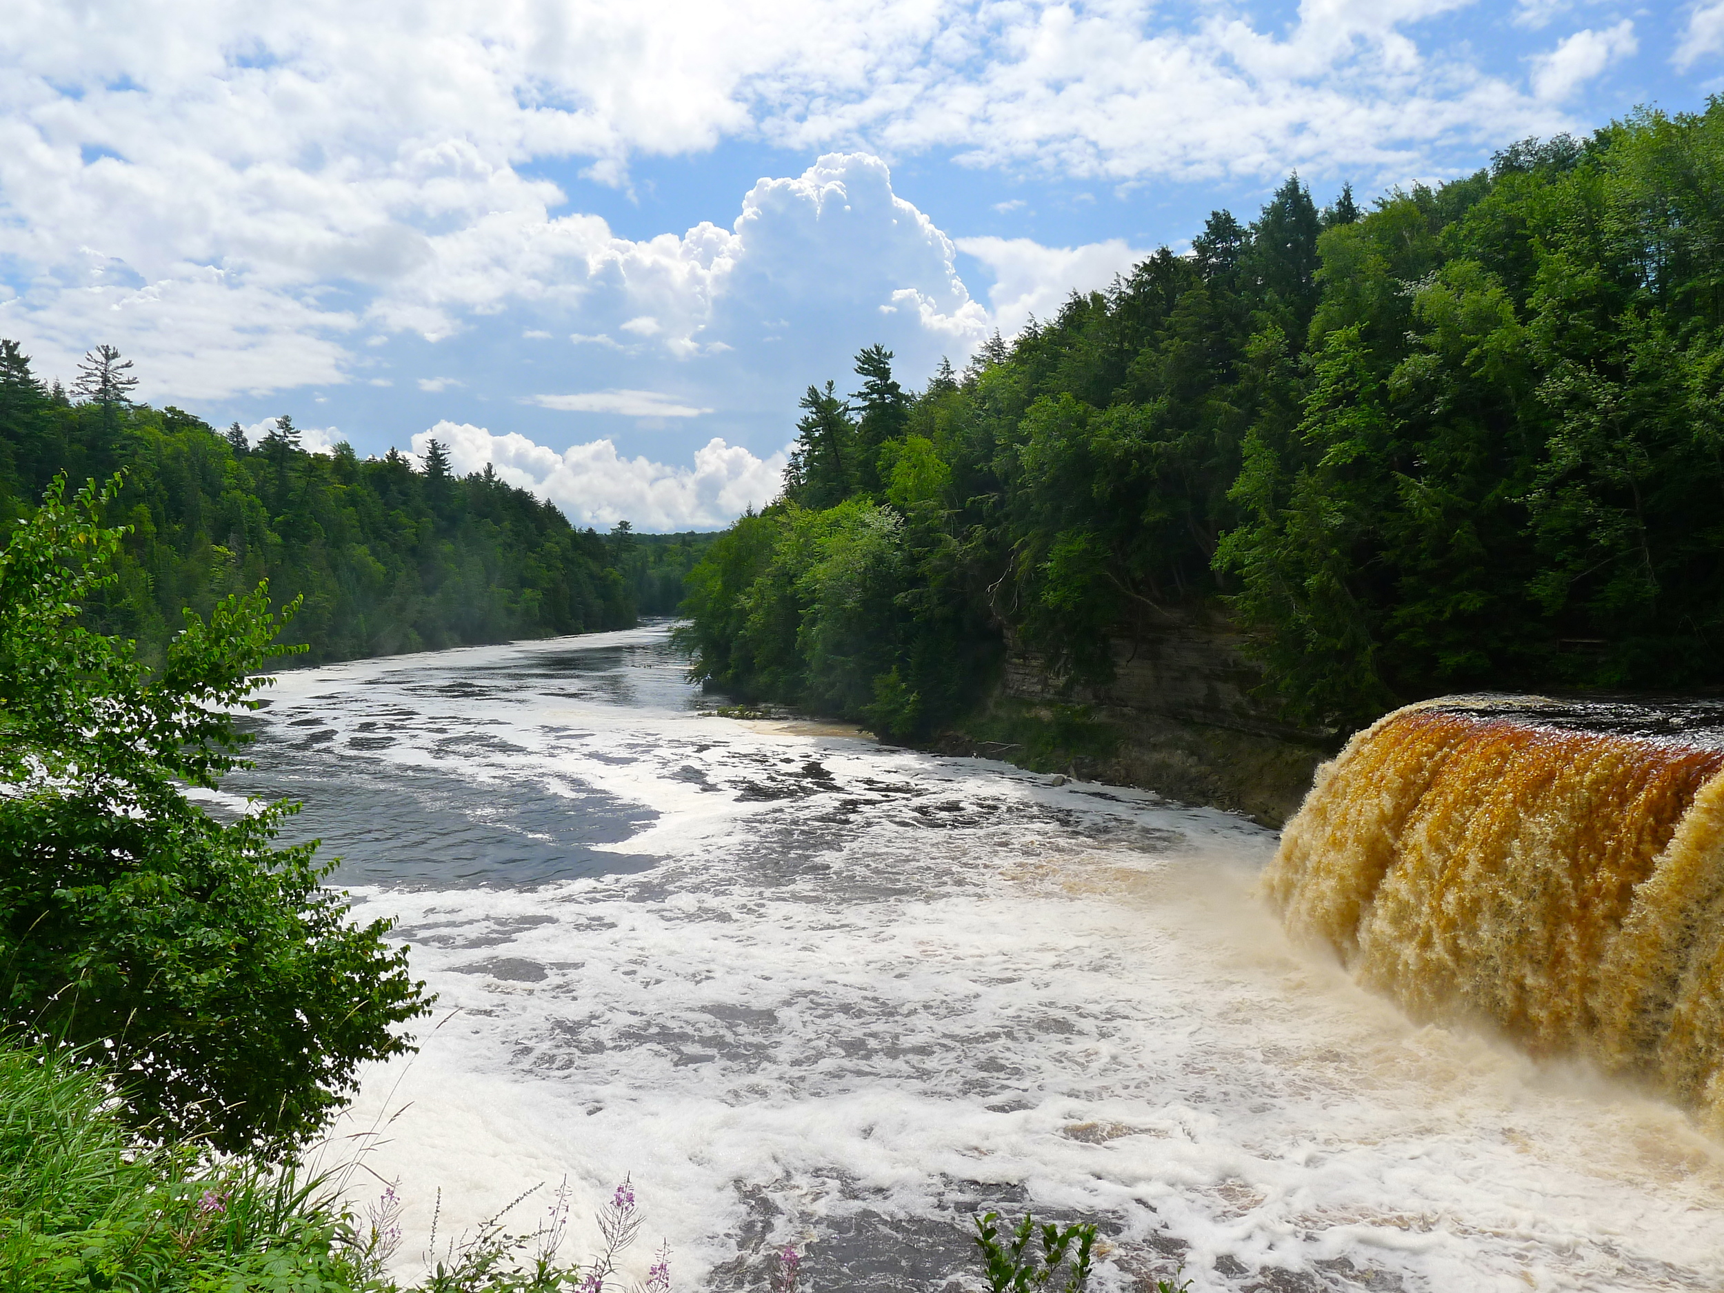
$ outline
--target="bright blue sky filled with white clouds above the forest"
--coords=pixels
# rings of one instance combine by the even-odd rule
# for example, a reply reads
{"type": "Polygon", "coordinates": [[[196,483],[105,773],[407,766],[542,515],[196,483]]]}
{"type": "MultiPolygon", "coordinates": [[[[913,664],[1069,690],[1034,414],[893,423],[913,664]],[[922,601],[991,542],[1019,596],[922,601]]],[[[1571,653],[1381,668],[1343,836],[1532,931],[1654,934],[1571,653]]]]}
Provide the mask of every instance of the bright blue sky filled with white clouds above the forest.
{"type": "Polygon", "coordinates": [[[726,524],[796,400],[1319,203],[1724,90],[1724,0],[9,0],[0,336],[581,526],[726,524]]]}

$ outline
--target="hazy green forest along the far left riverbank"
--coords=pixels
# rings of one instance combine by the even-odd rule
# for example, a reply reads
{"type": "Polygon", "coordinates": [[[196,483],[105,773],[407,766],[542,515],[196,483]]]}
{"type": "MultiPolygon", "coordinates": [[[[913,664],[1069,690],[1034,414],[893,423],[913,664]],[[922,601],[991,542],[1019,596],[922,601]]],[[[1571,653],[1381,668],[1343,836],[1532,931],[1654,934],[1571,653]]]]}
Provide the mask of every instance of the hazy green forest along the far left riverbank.
{"type": "Polygon", "coordinates": [[[117,583],[86,619],[148,659],[184,607],[207,615],[260,579],[276,607],[303,598],[283,643],[307,645],[312,662],[628,628],[631,584],[650,591],[614,540],[490,467],[455,476],[438,445],[419,467],[395,450],[359,459],[347,443],[309,453],[291,417],[248,445],[238,424],[217,433],[179,409],[134,405],[129,367],[103,347],[67,395],[0,341],[0,533],[59,472],[74,484],[122,472],[107,519],[131,533],[117,583]]]}

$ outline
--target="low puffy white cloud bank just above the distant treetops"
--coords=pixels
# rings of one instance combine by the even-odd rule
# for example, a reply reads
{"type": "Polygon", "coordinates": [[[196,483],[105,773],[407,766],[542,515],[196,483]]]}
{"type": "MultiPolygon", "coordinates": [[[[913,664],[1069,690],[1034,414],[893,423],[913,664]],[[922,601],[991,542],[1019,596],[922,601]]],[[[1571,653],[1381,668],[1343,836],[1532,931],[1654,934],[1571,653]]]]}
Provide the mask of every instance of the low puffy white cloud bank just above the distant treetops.
{"type": "Polygon", "coordinates": [[[438,422],[421,431],[414,452],[422,455],[433,436],[448,445],[457,472],[491,464],[510,484],[557,503],[574,524],[603,529],[617,521],[646,531],[715,529],[778,497],[788,460],[784,450],[757,459],[719,438],[695,450],[693,467],[626,459],[610,440],[559,453],[519,433],[495,436],[467,422],[438,422]]]}

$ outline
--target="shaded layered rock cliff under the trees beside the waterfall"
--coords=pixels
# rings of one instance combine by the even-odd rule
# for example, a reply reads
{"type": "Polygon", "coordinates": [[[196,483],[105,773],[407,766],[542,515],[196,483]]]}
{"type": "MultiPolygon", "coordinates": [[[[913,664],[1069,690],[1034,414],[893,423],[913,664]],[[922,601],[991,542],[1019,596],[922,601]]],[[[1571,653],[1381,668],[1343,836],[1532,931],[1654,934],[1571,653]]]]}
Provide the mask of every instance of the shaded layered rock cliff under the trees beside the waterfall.
{"type": "Polygon", "coordinates": [[[1298,810],[1334,738],[1279,722],[1252,696],[1262,672],[1226,619],[1171,614],[1112,648],[1114,679],[1081,686],[1014,643],[986,714],[941,746],[967,743],[972,753],[1231,809],[1265,826],[1298,810]]]}

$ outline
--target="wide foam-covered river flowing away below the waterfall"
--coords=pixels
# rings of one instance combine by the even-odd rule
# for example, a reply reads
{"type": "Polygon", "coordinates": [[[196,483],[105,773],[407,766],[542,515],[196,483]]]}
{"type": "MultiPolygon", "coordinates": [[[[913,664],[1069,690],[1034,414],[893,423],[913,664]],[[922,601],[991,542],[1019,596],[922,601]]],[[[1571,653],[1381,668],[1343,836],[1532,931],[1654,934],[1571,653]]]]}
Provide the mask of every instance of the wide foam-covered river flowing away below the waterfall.
{"type": "Polygon", "coordinates": [[[974,1288],[969,1215],[1024,1207],[1098,1219],[1109,1290],[1724,1284],[1712,1141],[1291,946],[1236,817],[714,717],[664,629],[271,695],[229,790],[303,798],[440,993],[345,1127],[409,1271],[438,1190],[450,1233],[633,1174],[681,1290],[786,1241],[822,1293],[974,1288]]]}

